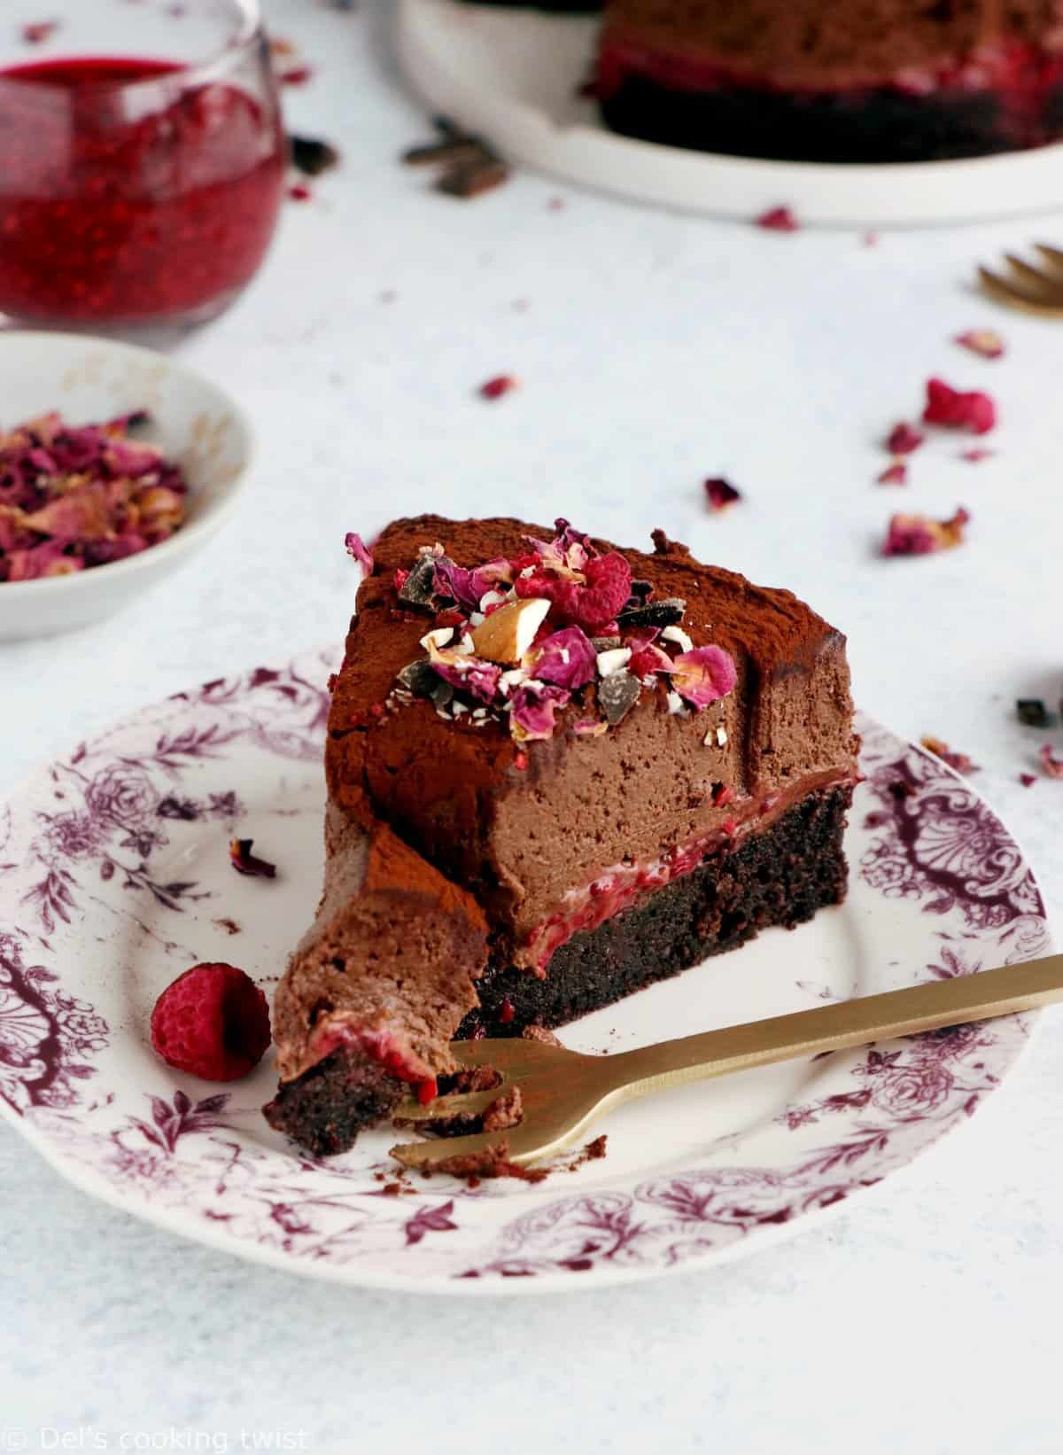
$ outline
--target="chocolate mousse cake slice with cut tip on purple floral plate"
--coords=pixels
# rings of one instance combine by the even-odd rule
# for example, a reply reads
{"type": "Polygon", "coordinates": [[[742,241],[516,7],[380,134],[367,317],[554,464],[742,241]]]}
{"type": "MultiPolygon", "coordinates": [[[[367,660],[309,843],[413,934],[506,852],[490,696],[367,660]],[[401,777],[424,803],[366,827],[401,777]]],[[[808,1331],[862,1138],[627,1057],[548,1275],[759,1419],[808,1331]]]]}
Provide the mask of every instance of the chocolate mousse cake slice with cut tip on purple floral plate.
{"type": "Polygon", "coordinates": [[[324,898],[275,1005],[266,1115],[310,1149],[433,1096],[454,1037],[561,1024],[842,899],[845,639],[654,547],[435,515],[375,543],[324,898]]]}

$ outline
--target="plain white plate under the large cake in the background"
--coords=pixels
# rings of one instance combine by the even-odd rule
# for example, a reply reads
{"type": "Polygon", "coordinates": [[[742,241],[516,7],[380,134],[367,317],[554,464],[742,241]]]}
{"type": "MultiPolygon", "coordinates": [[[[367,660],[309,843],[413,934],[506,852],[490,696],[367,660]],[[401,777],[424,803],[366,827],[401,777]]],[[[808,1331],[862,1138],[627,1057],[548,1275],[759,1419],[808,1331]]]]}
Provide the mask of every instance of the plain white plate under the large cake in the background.
{"type": "Polygon", "coordinates": [[[964,162],[829,166],[633,141],[580,96],[599,16],[401,0],[398,60],[429,106],[503,156],[637,202],[749,221],[910,227],[1047,212],[1063,202],[1063,144],[964,162]]]}

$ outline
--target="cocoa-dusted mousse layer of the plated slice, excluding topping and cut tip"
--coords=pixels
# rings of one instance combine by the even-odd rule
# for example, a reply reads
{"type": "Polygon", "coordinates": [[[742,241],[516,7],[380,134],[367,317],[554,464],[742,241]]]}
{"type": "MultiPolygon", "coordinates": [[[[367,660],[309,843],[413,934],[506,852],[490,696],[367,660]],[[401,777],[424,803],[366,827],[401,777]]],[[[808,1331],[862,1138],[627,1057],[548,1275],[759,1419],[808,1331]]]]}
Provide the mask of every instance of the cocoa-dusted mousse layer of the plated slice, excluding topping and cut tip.
{"type": "MultiPolygon", "coordinates": [[[[784,797],[852,783],[857,771],[841,633],[791,592],[704,566],[660,533],[653,554],[619,554],[633,579],[651,582],[651,599],[685,602],[691,642],[731,656],[737,681],[718,703],[675,711],[662,677],[606,732],[576,732],[589,710],[585,694],[558,711],[548,741],[525,746],[494,722],[441,716],[430,700],[394,707],[396,678],[423,656],[420,639],[436,621],[406,610],[396,572],[435,543],[471,567],[521,557],[528,538],[551,534],[513,519],[429,515],[390,525],[358,595],[326,757],[332,797],[345,805],[365,796],[378,818],[470,890],[496,952],[538,970],[548,968],[538,957],[541,927],[571,896],[682,856],[691,844],[704,853],[714,835],[777,816],[784,797]]],[[[617,550],[606,541],[595,547],[617,550]]]]}

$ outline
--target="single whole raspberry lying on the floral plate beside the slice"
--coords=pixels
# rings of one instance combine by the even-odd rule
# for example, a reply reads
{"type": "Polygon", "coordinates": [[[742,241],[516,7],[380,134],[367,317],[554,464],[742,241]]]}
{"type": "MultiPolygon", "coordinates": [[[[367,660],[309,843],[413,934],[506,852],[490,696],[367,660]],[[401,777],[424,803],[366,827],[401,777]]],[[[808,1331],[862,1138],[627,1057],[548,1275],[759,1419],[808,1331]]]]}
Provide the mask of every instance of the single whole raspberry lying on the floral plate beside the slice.
{"type": "Polygon", "coordinates": [[[151,1045],[177,1071],[237,1081],[270,1042],[269,1007],[234,965],[193,965],[167,985],[151,1011],[151,1045]]]}

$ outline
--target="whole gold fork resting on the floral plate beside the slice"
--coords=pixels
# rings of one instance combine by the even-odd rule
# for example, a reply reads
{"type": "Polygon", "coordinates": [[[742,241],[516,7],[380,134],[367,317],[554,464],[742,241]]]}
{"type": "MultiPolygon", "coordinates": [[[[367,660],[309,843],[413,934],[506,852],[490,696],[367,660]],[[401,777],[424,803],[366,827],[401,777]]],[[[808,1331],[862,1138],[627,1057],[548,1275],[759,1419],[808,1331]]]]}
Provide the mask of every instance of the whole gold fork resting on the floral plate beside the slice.
{"type": "Polygon", "coordinates": [[[505,1141],[509,1161],[531,1163],[570,1147],[596,1117],[622,1101],[666,1087],[989,1020],[1059,1000],[1063,1000],[1063,954],[1051,954],[906,991],[665,1040],[615,1056],[586,1056],[537,1040],[460,1040],[451,1048],[455,1059],[468,1069],[494,1068],[499,1084],[490,1091],[438,1097],[428,1106],[407,1100],[396,1117],[430,1126],[446,1117],[481,1116],[500,1096],[518,1087],[521,1123],[505,1132],[407,1142],[394,1147],[391,1155],[406,1167],[432,1167],[451,1157],[497,1149],[505,1141]]]}

